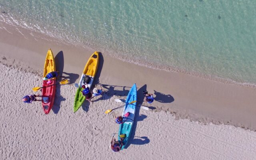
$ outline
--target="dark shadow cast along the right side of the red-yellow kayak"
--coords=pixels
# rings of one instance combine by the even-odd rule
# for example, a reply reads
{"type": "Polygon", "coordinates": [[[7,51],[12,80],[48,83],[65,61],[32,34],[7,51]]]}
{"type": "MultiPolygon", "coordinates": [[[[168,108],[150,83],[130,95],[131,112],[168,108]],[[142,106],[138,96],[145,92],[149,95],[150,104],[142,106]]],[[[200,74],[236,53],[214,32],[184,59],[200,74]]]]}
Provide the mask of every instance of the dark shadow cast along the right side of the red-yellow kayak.
{"type": "MultiPolygon", "coordinates": [[[[56,70],[59,71],[59,75],[56,80],[57,81],[56,83],[58,83],[62,76],[62,72],[64,68],[64,56],[62,51],[58,52],[58,54],[54,58],[54,61],[55,61],[56,70]]],[[[60,95],[60,85],[57,84],[56,91],[55,91],[54,105],[52,106],[52,111],[54,112],[54,114],[58,114],[60,110],[61,101],[64,101],[64,100],[66,99],[60,95]]]]}

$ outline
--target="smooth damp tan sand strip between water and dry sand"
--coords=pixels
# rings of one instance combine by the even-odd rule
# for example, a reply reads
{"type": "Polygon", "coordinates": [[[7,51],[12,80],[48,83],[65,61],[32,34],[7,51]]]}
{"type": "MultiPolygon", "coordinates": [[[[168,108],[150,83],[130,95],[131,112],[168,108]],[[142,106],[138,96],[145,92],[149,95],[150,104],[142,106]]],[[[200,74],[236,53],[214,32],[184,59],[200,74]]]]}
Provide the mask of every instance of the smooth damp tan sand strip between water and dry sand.
{"type": "MultiPolygon", "coordinates": [[[[54,38],[50,41],[47,36],[24,28],[8,28],[8,31],[0,28],[0,31],[1,63],[16,65],[39,76],[42,74],[48,48],[52,49],[55,57],[62,52],[64,62],[56,62],[59,63],[56,68],[61,67],[63,72],[73,74],[74,82],[78,82],[84,65],[94,52],[63,44],[54,38]]],[[[254,88],[147,68],[111,58],[104,55],[104,52],[102,58],[102,67],[97,72],[98,81],[116,86],[131,86],[136,82],[138,88],[146,84],[148,92],[155,97],[152,104],[156,107],[155,112],[163,110],[175,113],[176,119],[187,118],[204,124],[230,124],[256,131],[254,88]]],[[[122,89],[123,93],[126,92],[124,90],[129,90],[118,89],[116,92],[121,94],[122,89]]]]}

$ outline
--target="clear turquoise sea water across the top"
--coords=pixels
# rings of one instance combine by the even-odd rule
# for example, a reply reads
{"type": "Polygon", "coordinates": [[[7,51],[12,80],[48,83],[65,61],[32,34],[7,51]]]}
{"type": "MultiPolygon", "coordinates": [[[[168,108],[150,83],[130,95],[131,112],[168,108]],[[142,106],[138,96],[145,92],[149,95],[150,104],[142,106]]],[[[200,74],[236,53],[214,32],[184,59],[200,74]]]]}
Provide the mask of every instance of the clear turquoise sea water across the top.
{"type": "Polygon", "coordinates": [[[255,85],[255,6],[255,0],[0,0],[0,20],[124,61],[255,85]]]}

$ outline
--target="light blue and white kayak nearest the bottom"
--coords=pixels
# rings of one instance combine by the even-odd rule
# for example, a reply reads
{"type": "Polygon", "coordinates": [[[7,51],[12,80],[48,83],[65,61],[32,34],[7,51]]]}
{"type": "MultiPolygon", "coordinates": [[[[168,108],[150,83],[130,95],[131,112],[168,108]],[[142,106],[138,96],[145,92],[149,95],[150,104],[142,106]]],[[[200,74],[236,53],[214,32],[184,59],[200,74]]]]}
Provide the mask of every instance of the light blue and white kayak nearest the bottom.
{"type": "Polygon", "coordinates": [[[130,115],[128,116],[126,122],[124,122],[123,124],[119,125],[119,132],[118,132],[118,140],[120,140],[120,135],[121,134],[126,134],[126,138],[123,140],[123,146],[121,148],[124,149],[124,147],[126,146],[131,133],[132,133],[132,124],[134,121],[134,116],[135,116],[135,111],[136,111],[136,102],[133,104],[129,104],[130,102],[137,100],[137,88],[136,88],[136,84],[134,84],[130,90],[130,92],[128,93],[128,96],[126,98],[126,106],[124,107],[124,111],[123,111],[123,115],[126,114],[127,112],[130,112],[130,115]]]}

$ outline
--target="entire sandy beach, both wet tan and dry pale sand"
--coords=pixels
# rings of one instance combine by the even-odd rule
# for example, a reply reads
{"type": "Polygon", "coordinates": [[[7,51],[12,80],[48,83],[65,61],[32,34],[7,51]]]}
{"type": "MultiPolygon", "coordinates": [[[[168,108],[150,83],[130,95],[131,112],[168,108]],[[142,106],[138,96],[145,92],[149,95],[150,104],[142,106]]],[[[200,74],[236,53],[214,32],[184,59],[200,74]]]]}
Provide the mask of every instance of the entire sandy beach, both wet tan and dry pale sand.
{"type": "Polygon", "coordinates": [[[96,82],[109,90],[101,100],[85,102],[74,114],[73,83],[94,51],[0,26],[0,159],[255,159],[254,88],[154,70],[100,51],[96,82]],[[54,107],[45,115],[40,102],[24,104],[21,98],[41,85],[48,48],[57,70],[69,76],[72,84],[56,87],[54,107]],[[140,104],[142,90],[147,89],[155,96],[150,106],[156,109],[137,110],[128,148],[114,153],[110,140],[118,132],[114,118],[122,109],[107,115],[104,111],[121,106],[114,99],[125,99],[134,83],[140,104]]]}

